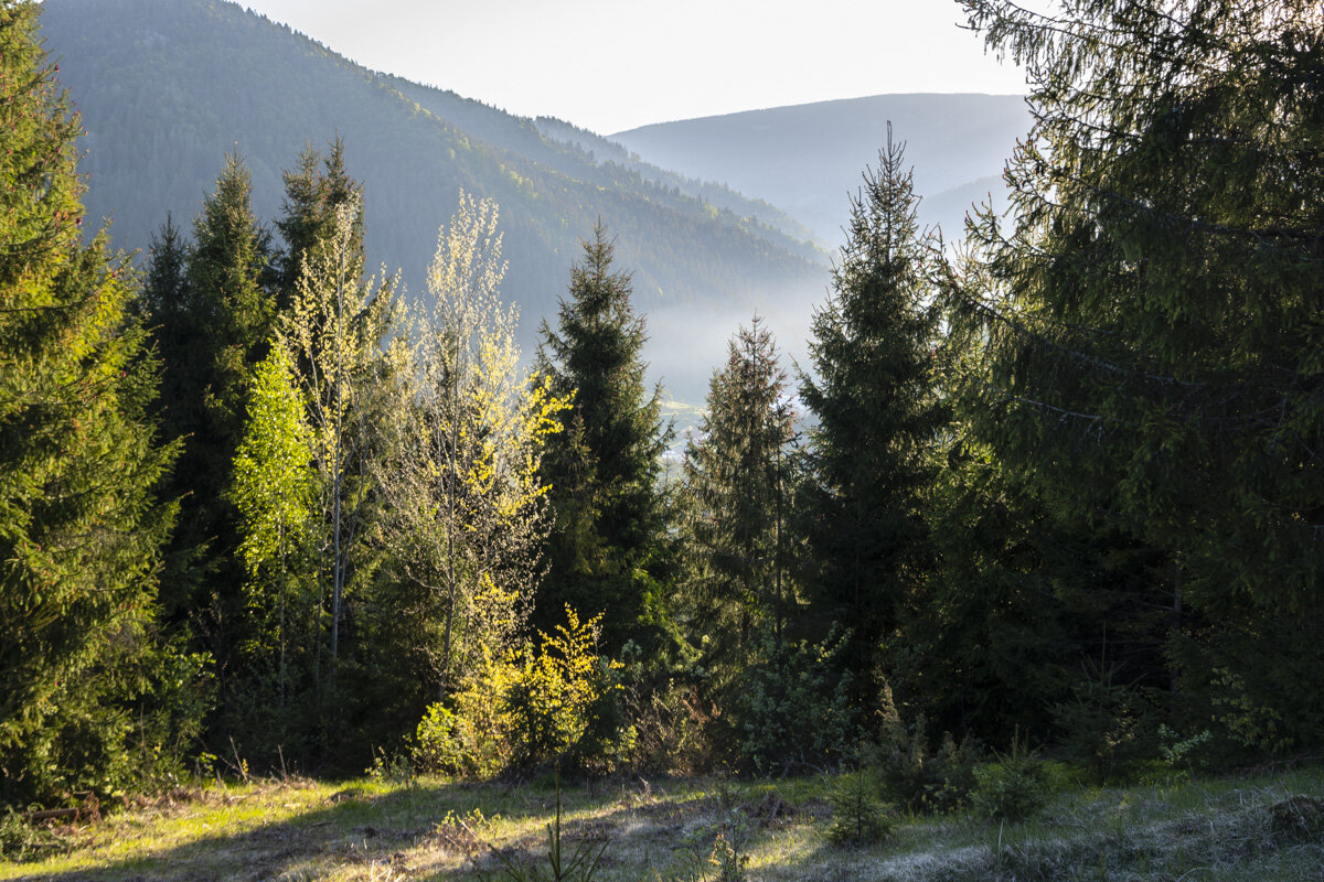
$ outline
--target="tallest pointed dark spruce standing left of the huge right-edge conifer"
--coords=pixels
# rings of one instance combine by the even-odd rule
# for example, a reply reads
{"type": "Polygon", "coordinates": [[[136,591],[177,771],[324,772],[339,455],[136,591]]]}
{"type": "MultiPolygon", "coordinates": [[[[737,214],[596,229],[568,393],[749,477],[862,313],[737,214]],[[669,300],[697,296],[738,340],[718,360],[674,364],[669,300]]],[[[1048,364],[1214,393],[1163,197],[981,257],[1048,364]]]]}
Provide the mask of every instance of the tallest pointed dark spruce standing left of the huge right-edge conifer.
{"type": "Polygon", "coordinates": [[[943,411],[929,378],[932,242],[919,231],[911,173],[890,131],[863,179],[833,291],[814,315],[813,374],[800,385],[817,418],[801,514],[810,588],[851,628],[846,662],[870,689],[879,647],[927,567],[920,497],[943,411]]]}

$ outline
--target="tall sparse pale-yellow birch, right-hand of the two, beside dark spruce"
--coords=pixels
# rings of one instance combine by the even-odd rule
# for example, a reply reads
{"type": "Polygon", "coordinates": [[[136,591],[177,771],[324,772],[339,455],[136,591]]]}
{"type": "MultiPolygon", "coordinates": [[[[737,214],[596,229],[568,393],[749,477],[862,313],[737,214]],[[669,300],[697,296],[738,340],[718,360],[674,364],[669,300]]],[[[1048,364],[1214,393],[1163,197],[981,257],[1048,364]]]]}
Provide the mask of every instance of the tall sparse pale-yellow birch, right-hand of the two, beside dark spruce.
{"type": "Polygon", "coordinates": [[[567,407],[520,372],[519,312],[498,291],[500,239],[495,202],[461,192],[429,267],[432,303],[413,316],[400,446],[377,475],[388,543],[418,590],[417,652],[441,698],[527,616],[548,530],[543,438],[567,407]]]}

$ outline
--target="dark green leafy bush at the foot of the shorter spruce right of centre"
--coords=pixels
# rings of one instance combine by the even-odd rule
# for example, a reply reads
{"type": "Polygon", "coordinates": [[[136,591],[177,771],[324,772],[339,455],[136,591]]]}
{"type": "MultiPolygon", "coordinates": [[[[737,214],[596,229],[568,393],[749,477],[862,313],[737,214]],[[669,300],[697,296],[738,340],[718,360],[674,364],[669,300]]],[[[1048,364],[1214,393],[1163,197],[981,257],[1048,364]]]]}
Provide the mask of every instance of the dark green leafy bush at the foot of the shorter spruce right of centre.
{"type": "Polygon", "coordinates": [[[842,669],[849,639],[835,628],[818,644],[764,637],[733,709],[740,752],[756,770],[825,768],[849,750],[857,715],[854,678],[842,669]]]}

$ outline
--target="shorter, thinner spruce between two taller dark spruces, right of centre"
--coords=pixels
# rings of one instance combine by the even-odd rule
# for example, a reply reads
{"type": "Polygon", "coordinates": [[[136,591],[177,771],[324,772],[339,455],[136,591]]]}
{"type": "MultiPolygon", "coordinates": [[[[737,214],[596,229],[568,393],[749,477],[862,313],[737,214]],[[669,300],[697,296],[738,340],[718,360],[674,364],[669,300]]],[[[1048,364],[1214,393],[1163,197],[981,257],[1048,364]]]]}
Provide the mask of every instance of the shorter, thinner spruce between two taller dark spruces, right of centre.
{"type": "Polygon", "coordinates": [[[712,374],[708,409],[685,451],[692,500],[694,628],[708,665],[748,661],[767,628],[780,640],[792,591],[782,554],[794,409],[772,333],[755,316],[712,374]]]}

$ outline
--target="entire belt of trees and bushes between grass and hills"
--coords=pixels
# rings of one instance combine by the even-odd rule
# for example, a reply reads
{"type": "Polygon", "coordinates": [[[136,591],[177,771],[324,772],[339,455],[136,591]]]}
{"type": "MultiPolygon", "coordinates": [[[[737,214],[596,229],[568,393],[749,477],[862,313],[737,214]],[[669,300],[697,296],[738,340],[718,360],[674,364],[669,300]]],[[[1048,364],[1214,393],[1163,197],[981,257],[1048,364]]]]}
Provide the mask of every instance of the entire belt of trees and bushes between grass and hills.
{"type": "MultiPolygon", "coordinates": [[[[1037,762],[1317,756],[1324,15],[960,7],[1030,75],[1010,212],[922,227],[894,132],[809,357],[752,315],[675,438],[602,225],[522,316],[499,205],[458,190],[405,298],[332,140],[277,217],[221,152],[113,251],[41,7],[3,0],[5,809],[225,768],[857,770],[1014,819],[1037,762]]],[[[871,805],[834,836],[883,834],[871,805]]]]}

